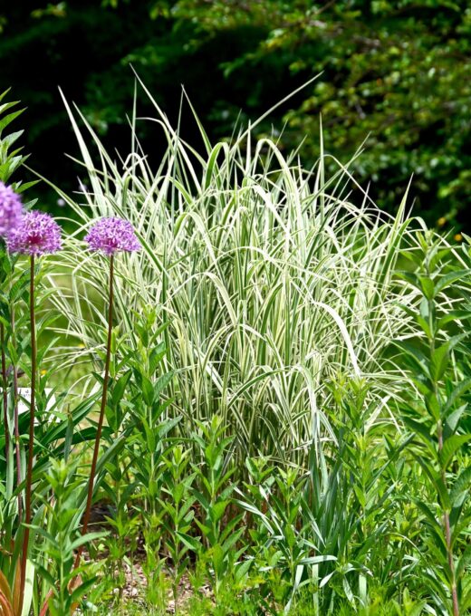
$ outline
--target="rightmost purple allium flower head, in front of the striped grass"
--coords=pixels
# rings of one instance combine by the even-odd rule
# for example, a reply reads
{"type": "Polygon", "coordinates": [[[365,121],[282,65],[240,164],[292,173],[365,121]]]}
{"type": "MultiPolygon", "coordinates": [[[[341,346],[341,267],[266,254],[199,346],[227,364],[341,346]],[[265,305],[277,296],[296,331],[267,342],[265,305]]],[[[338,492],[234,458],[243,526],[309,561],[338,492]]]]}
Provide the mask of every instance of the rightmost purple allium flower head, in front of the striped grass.
{"type": "Polygon", "coordinates": [[[102,250],[105,255],[124,250],[128,253],[140,250],[139,240],[128,220],[111,217],[101,218],[85,237],[91,250],[102,250]]]}

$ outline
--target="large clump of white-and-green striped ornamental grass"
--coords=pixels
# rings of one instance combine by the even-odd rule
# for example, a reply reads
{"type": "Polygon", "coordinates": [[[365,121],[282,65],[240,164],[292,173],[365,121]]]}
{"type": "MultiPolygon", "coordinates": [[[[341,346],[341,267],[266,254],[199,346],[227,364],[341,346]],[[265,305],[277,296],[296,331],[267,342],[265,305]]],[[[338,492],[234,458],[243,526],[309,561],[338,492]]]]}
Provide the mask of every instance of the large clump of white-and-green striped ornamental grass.
{"type": "MultiPolygon", "coordinates": [[[[197,150],[146,92],[157,113],[147,120],[168,143],[157,168],[140,148],[136,108],[130,154],[115,160],[65,102],[89,185],[80,197],[59,191],[79,220],[76,235],[100,216],[125,217],[138,230],[143,250],[116,268],[116,317],[138,347],[132,312],[158,307],[165,368],[175,373],[168,413],[183,412],[180,429],[217,414],[241,457],[305,461],[312,441],[333,438],[332,381],[367,380],[385,409],[399,390],[400,371],[384,356],[414,330],[399,304],[413,305],[417,293],[393,279],[399,246],[414,244],[405,200],[397,217],[385,215],[356,184],[353,161],[336,161],[327,178],[322,142],[306,169],[274,140],[253,140],[253,127],[213,146],[195,114],[197,150]]],[[[56,265],[75,274],[72,289],[52,275],[53,302],[68,317],[61,333],[96,357],[105,280],[77,251],[56,265]]]]}

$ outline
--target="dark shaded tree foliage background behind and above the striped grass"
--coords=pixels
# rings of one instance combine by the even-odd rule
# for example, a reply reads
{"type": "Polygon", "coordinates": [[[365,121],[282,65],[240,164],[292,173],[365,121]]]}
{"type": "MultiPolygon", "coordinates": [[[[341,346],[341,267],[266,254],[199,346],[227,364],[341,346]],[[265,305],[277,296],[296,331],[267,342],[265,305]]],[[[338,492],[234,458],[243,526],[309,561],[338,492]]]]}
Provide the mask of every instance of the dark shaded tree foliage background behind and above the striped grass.
{"type": "MultiPolygon", "coordinates": [[[[237,118],[255,120],[313,75],[319,79],[258,130],[286,124],[281,142],[303,158],[325,149],[355,163],[370,195],[394,211],[414,174],[415,212],[446,229],[466,228],[471,188],[471,8],[466,0],[72,0],[0,5],[0,91],[28,108],[22,117],[32,164],[77,188],[76,151],[57,91],[77,102],[109,145],[129,149],[130,63],[171,120],[181,84],[213,139],[237,118]],[[242,112],[241,112],[242,111],[242,112]],[[240,114],[240,115],[239,115],[240,114]]],[[[142,97],[139,113],[154,115],[142,97]]],[[[197,140],[184,113],[182,133],[197,140]]],[[[142,123],[150,156],[163,137],[142,123]]],[[[53,197],[44,194],[47,207],[53,197]]]]}

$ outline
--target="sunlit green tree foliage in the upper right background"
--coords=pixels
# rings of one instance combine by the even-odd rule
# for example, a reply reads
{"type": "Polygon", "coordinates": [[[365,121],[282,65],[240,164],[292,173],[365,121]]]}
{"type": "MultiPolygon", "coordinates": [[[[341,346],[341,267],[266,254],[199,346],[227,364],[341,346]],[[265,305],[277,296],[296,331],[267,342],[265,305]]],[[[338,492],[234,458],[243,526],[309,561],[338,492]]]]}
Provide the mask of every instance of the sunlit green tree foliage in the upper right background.
{"type": "Polygon", "coordinates": [[[380,204],[397,205],[414,173],[419,207],[432,220],[452,220],[465,207],[471,188],[466,2],[181,0],[178,12],[209,35],[264,24],[256,50],[226,64],[226,76],[268,56],[292,73],[322,72],[285,115],[294,143],[308,135],[305,155],[315,158],[322,113],[334,156],[348,159],[369,136],[358,171],[374,181],[380,204]]]}

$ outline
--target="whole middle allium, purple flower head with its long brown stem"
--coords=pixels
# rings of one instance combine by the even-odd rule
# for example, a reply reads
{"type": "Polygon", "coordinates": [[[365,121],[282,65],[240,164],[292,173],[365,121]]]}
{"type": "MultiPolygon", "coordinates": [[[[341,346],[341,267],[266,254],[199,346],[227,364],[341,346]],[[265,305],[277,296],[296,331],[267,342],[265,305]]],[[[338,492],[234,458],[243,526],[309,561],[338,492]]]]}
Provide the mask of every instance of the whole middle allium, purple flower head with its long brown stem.
{"type": "Polygon", "coordinates": [[[31,488],[33,483],[34,458],[34,415],[36,391],[36,322],[34,311],[34,273],[36,257],[50,255],[62,247],[61,227],[49,214],[34,210],[21,217],[17,226],[11,228],[6,235],[6,247],[10,253],[28,255],[30,257],[30,331],[31,331],[31,395],[28,456],[26,462],[26,486],[24,495],[24,540],[21,560],[20,582],[20,613],[24,597],[26,581],[26,563],[28,560],[28,544],[31,525],[31,488]]]}

